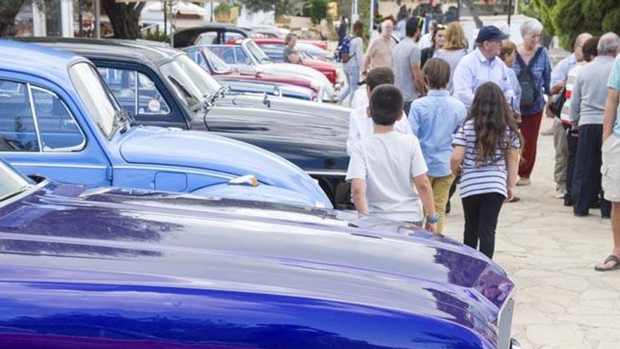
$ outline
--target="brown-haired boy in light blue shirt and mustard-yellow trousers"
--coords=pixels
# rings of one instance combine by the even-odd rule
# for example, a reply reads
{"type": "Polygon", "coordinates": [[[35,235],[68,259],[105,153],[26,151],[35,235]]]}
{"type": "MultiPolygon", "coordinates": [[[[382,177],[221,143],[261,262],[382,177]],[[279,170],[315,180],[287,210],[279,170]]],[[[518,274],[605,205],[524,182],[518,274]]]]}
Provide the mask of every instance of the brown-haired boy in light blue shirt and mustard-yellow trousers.
{"type": "Polygon", "coordinates": [[[420,140],[428,166],[428,179],[433,187],[435,211],[439,214],[438,233],[443,230],[445,207],[454,173],[450,169],[452,137],[465,119],[465,104],[446,90],[450,80],[450,64],[442,59],[429,59],[422,69],[428,89],[426,97],[416,99],[409,109],[411,131],[420,140]]]}

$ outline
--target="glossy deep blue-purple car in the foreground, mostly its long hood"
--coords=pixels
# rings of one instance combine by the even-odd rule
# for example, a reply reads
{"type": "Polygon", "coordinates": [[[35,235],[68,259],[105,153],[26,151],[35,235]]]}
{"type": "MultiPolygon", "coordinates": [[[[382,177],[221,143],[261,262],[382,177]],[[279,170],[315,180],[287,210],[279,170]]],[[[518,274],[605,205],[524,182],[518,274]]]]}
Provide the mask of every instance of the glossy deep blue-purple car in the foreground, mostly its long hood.
{"type": "Polygon", "coordinates": [[[415,226],[0,179],[0,348],[511,348],[504,271],[415,226]]]}

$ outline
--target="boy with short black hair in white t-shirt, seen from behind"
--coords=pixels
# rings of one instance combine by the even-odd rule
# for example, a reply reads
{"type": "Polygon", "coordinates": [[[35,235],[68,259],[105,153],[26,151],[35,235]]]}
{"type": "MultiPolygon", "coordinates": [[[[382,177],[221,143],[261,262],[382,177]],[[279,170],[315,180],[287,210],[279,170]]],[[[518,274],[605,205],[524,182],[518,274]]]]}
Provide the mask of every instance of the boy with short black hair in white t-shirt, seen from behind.
{"type": "Polygon", "coordinates": [[[420,142],[394,130],[402,106],[402,94],[394,85],[373,89],[367,109],[373,135],[356,143],[347,180],[359,213],[421,226],[426,212],[426,228],[435,232],[439,215],[420,142]]]}

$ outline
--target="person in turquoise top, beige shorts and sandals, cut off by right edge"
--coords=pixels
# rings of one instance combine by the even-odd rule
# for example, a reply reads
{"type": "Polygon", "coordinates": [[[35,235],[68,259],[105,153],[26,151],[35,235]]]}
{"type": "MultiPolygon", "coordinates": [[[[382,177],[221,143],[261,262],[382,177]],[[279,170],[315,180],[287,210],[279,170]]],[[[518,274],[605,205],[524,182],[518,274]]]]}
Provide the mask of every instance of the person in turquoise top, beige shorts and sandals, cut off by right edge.
{"type": "Polygon", "coordinates": [[[620,269],[620,56],[616,57],[607,87],[601,173],[605,199],[612,202],[614,250],[605,262],[595,267],[597,271],[620,269]]]}

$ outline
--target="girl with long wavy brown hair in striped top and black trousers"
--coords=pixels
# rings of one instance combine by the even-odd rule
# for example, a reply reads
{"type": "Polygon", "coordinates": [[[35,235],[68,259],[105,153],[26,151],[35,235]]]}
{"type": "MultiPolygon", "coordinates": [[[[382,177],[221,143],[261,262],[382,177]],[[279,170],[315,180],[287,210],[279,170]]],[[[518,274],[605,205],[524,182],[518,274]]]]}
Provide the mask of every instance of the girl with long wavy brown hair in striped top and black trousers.
{"type": "Polygon", "coordinates": [[[497,217],[514,197],[521,134],[504,92],[494,82],[476,90],[469,116],[454,137],[452,170],[461,173],[464,244],[493,257],[497,217]]]}

